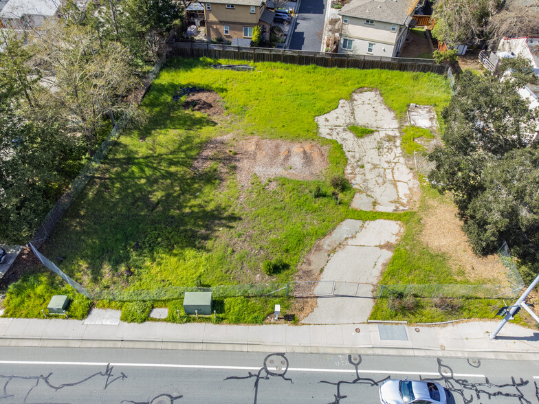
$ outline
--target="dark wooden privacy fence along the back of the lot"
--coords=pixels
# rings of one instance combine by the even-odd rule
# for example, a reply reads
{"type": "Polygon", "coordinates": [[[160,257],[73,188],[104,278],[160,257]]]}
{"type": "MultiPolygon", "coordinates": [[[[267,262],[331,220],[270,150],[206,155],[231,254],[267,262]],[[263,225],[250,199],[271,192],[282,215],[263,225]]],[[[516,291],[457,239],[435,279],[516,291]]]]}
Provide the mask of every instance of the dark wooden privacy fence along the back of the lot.
{"type": "Polygon", "coordinates": [[[181,56],[184,58],[206,57],[212,59],[248,60],[253,62],[281,62],[292,65],[317,65],[321,67],[420,71],[423,73],[432,72],[437,74],[445,74],[448,69],[445,65],[437,65],[434,60],[418,58],[331,54],[196,42],[176,42],[172,44],[171,48],[170,56],[181,56]]]}

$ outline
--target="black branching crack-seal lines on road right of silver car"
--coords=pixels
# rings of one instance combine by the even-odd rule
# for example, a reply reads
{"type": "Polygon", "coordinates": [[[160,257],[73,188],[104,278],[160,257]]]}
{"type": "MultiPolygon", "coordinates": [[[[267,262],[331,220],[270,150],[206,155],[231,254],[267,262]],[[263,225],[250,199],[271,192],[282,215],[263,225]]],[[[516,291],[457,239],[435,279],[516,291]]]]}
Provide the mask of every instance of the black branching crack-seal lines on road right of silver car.
{"type": "MultiPolygon", "coordinates": [[[[532,404],[527,400],[520,391],[525,385],[529,384],[529,381],[520,378],[520,381],[516,381],[514,377],[511,377],[511,383],[507,384],[494,384],[490,383],[488,377],[485,377],[485,383],[473,383],[466,379],[456,379],[452,368],[445,365],[440,358],[438,361],[439,378],[421,378],[421,380],[439,381],[440,384],[445,384],[445,388],[454,394],[459,394],[462,397],[464,404],[470,404],[474,402],[474,394],[478,400],[492,399],[492,397],[507,397],[507,399],[516,399],[520,404],[532,404]],[[514,392],[504,392],[502,389],[512,388],[514,392]],[[489,390],[487,390],[489,389],[489,390]],[[469,395],[468,395],[469,394],[469,395]]],[[[537,388],[537,386],[536,386],[537,388]]]]}

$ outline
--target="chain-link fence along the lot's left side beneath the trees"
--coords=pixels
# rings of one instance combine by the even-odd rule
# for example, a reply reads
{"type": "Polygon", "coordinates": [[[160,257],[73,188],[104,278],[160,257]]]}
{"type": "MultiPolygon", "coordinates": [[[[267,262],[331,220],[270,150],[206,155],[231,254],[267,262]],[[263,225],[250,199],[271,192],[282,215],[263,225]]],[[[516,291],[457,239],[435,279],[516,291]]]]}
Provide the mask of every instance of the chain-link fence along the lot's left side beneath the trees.
{"type": "MultiPolygon", "coordinates": [[[[140,99],[137,99],[137,102],[140,102],[140,100],[142,100],[142,97],[148,91],[149,87],[151,86],[151,83],[153,82],[153,79],[157,76],[165,62],[166,56],[163,56],[150,71],[150,73],[142,83],[142,91],[140,93],[141,96],[140,99]]],[[[56,226],[56,223],[58,223],[58,221],[63,217],[65,212],[67,212],[67,209],[69,208],[69,206],[72,205],[76,197],[78,197],[80,191],[85,188],[86,184],[101,164],[102,159],[107,156],[107,153],[109,153],[111,147],[116,143],[118,137],[120,137],[120,131],[122,129],[122,126],[124,126],[124,122],[122,122],[122,120],[116,122],[116,124],[112,128],[111,133],[107,136],[106,139],[104,139],[96,154],[94,154],[88,164],[72,181],[69,188],[67,188],[64,194],[60,197],[60,199],[58,199],[58,201],[56,201],[54,206],[47,213],[47,215],[45,216],[45,220],[43,220],[43,223],[41,223],[41,225],[36,229],[34,235],[32,236],[32,240],[30,240],[30,243],[32,243],[33,247],[38,249],[39,247],[41,247],[41,245],[43,245],[43,243],[45,243],[45,240],[49,238],[52,229],[54,229],[54,227],[56,226]]]]}

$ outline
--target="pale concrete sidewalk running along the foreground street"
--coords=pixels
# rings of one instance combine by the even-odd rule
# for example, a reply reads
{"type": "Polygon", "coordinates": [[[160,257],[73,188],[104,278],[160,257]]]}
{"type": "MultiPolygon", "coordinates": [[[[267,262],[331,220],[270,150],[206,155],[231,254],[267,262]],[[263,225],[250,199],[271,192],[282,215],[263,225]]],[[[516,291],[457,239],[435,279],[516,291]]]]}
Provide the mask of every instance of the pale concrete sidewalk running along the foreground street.
{"type": "Polygon", "coordinates": [[[0,318],[0,345],[539,359],[538,332],[507,324],[491,341],[497,322],[230,326],[89,319],[0,318]]]}

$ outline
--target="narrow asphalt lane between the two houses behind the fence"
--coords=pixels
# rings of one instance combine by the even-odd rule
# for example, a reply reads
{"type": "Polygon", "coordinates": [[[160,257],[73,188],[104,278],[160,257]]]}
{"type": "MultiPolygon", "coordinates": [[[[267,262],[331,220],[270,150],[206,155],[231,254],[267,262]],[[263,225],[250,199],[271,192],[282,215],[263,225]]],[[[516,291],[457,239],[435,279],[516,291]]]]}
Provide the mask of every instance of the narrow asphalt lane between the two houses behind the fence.
{"type": "Polygon", "coordinates": [[[324,27],[325,1],[301,0],[289,49],[320,52],[322,41],[316,33],[324,27]]]}

